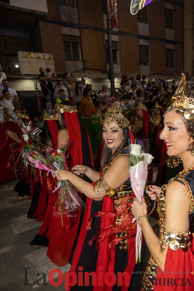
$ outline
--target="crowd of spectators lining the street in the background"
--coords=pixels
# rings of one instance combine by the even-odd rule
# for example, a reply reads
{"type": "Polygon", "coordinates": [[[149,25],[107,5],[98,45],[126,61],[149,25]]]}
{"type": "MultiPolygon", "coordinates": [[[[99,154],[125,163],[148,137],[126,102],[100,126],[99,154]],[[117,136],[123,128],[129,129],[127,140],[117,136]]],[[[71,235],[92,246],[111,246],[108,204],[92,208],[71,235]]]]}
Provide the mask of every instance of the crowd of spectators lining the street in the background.
{"type": "MultiPolygon", "coordinates": [[[[40,74],[38,79],[43,94],[42,110],[46,109],[48,114],[55,112],[56,102],[61,103],[63,100],[70,100],[77,108],[79,114],[90,115],[99,110],[106,111],[106,107],[114,102],[119,102],[123,110],[130,110],[131,107],[137,107],[141,101],[148,109],[153,109],[156,102],[163,108],[168,107],[172,103],[172,96],[175,94],[176,88],[180,82],[173,78],[169,84],[166,75],[162,79],[158,79],[157,75],[153,79],[147,79],[145,75],[142,77],[129,75],[125,71],[121,76],[120,88],[111,92],[107,85],[103,85],[98,92],[92,90],[92,84],[87,84],[86,79],[77,78],[74,73],[65,72],[63,78],[58,79],[55,72],[51,73],[49,68],[39,68],[40,74]],[[49,93],[50,92],[50,93],[49,93]],[[48,106],[51,96],[52,107],[48,106]]],[[[187,89],[192,90],[194,87],[194,79],[187,78],[187,89]]],[[[20,110],[27,111],[26,108],[19,108],[18,95],[13,88],[9,87],[4,72],[0,70],[0,123],[3,121],[17,122],[17,113],[20,110]]],[[[34,125],[43,128],[43,114],[39,112],[33,115],[34,125]]]]}

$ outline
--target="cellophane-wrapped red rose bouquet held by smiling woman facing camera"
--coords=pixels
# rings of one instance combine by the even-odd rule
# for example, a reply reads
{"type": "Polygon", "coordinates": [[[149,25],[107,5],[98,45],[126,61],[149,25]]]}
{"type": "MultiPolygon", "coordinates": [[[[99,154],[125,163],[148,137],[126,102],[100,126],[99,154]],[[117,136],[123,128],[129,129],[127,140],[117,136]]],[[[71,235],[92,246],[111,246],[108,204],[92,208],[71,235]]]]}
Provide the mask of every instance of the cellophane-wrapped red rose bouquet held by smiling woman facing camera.
{"type": "MultiPolygon", "coordinates": [[[[66,150],[67,146],[62,149],[47,152],[47,158],[56,170],[67,169],[67,158],[65,155],[66,150]]],[[[54,216],[61,216],[62,226],[63,215],[67,217],[78,216],[78,211],[85,206],[85,203],[80,198],[77,190],[72,186],[67,180],[60,180],[57,182],[57,187],[54,190],[56,191],[60,187],[58,200],[54,206],[54,216]]]]}

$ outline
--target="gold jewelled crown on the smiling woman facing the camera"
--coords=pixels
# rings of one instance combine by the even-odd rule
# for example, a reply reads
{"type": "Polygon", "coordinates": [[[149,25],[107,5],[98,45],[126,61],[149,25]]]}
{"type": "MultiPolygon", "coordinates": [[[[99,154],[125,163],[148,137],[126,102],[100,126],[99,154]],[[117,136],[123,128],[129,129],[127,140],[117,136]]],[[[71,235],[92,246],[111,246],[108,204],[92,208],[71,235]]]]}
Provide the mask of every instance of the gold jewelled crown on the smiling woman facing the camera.
{"type": "Polygon", "coordinates": [[[122,107],[119,102],[113,103],[111,107],[108,107],[104,122],[109,126],[112,122],[116,121],[120,128],[131,128],[129,120],[122,115],[122,107]]]}

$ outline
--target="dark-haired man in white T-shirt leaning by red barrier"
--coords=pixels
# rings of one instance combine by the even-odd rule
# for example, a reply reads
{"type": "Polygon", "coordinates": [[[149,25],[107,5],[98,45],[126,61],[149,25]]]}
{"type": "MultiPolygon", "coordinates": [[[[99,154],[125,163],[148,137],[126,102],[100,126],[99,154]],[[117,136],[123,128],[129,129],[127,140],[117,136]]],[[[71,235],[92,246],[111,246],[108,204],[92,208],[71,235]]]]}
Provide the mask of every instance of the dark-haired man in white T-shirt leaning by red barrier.
{"type": "Polygon", "coordinates": [[[5,110],[6,116],[9,118],[10,121],[17,121],[17,113],[15,111],[15,107],[12,101],[12,98],[10,96],[10,93],[8,90],[3,90],[3,109],[5,110]]]}

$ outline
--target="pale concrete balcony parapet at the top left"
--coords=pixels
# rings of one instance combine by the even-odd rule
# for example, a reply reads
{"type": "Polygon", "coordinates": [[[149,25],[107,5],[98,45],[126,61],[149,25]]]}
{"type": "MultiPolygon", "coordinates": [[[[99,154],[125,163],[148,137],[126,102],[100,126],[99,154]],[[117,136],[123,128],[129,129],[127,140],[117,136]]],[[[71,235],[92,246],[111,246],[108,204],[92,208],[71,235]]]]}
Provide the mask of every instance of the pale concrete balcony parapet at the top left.
{"type": "Polygon", "coordinates": [[[47,0],[10,0],[10,5],[21,7],[24,9],[31,9],[40,12],[48,12],[47,0]]]}

